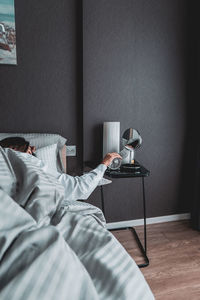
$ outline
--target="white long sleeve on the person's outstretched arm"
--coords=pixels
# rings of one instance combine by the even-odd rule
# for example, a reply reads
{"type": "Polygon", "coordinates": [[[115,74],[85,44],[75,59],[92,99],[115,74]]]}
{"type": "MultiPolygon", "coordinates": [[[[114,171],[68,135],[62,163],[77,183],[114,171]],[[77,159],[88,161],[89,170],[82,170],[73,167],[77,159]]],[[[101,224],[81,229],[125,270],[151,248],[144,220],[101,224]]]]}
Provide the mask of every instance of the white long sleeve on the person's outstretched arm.
{"type": "Polygon", "coordinates": [[[87,199],[103,178],[106,170],[104,164],[100,164],[96,169],[82,176],[70,176],[61,174],[58,180],[65,189],[66,200],[87,199]]]}

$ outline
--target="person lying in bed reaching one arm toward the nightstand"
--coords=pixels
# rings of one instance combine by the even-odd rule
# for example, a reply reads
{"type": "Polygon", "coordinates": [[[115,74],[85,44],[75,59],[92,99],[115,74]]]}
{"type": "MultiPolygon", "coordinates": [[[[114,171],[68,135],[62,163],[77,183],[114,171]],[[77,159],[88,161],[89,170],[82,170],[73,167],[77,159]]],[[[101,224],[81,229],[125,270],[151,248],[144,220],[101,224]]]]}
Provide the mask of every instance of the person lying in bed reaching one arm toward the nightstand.
{"type": "MultiPolygon", "coordinates": [[[[22,137],[5,138],[0,141],[0,146],[2,148],[10,148],[15,151],[35,156],[34,152],[36,151],[36,147],[31,146],[30,143],[22,137]]],[[[65,173],[56,172],[55,170],[52,171],[48,168],[47,165],[44,165],[43,162],[41,162],[41,168],[44,172],[56,177],[59,180],[59,182],[64,186],[66,200],[85,200],[97,187],[99,181],[103,178],[105,170],[115,158],[121,159],[121,156],[116,152],[107,153],[103,158],[102,162],[97,166],[97,168],[88,172],[87,174],[75,177],[65,173]]],[[[37,161],[39,159],[36,157],[32,157],[31,159],[30,157],[30,160],[33,160],[33,164],[37,164],[37,161]]]]}

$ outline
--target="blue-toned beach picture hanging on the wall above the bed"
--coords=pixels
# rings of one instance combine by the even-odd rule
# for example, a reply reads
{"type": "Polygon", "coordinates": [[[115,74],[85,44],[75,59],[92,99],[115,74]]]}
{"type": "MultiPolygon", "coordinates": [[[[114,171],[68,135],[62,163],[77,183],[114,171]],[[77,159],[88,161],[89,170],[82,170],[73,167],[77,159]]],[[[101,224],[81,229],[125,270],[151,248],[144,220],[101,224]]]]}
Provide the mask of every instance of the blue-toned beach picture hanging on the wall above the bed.
{"type": "Polygon", "coordinates": [[[17,64],[14,0],[0,0],[0,64],[17,64]]]}

